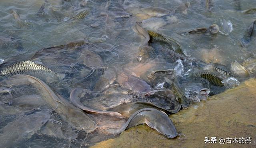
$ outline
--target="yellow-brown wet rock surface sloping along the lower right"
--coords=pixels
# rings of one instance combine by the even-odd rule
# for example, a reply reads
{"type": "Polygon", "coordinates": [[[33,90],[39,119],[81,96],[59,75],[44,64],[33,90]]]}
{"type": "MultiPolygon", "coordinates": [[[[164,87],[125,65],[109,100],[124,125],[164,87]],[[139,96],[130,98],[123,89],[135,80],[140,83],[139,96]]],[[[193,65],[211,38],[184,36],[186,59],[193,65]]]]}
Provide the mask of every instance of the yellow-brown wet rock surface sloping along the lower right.
{"type": "Polygon", "coordinates": [[[179,133],[174,139],[166,139],[146,125],[130,128],[115,139],[96,144],[96,148],[120,147],[256,147],[256,79],[250,79],[237,88],[228,90],[170,115],[179,133]],[[205,137],[251,137],[250,144],[205,144],[205,137]]]}

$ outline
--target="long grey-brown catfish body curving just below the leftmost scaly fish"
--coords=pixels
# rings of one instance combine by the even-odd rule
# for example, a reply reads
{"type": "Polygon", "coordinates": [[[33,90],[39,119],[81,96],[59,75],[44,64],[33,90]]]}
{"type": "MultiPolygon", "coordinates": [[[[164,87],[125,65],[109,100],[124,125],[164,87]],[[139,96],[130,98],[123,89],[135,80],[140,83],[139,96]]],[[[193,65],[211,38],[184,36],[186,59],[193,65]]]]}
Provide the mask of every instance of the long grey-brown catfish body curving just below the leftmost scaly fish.
{"type": "MultiPolygon", "coordinates": [[[[7,87],[11,87],[12,85],[33,86],[38,90],[38,92],[40,93],[40,96],[42,96],[42,98],[48,104],[48,106],[51,108],[54,108],[54,112],[59,114],[61,118],[65,120],[65,122],[68,122],[70,126],[76,130],[92,132],[96,128],[98,128],[96,126],[96,123],[90,116],[88,116],[85,112],[83,112],[76,106],[69,103],[68,100],[64,99],[52,88],[50,88],[47,84],[45,84],[42,80],[36,77],[20,74],[20,75],[12,76],[8,80],[4,80],[3,83],[7,87]]],[[[29,90],[26,90],[26,92],[29,92],[29,90]]],[[[20,128],[17,128],[17,129],[20,129],[20,128]]]]}

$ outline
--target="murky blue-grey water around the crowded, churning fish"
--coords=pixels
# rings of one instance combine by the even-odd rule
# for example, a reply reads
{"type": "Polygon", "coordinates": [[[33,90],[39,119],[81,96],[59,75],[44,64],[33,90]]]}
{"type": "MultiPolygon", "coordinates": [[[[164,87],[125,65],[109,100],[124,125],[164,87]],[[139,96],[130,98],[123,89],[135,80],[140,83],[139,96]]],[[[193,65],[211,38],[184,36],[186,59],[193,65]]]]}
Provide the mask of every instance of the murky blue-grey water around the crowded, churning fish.
{"type": "MultiPolygon", "coordinates": [[[[12,80],[0,77],[0,84],[12,88],[11,95],[8,92],[0,94],[0,137],[6,134],[14,135],[15,138],[10,140],[12,137],[8,139],[5,136],[6,147],[90,146],[118,136],[108,131],[120,128],[126,121],[124,119],[84,112],[83,116],[88,118],[88,122],[82,123],[84,120],[77,115],[77,112],[81,114],[81,110],[72,107],[72,113],[61,114],[65,106],[72,106],[69,103],[70,93],[77,87],[85,89],[79,94],[84,106],[104,111],[114,110],[113,108],[124,103],[146,101],[174,112],[180,106],[174,98],[175,93],[169,92],[171,88],[168,80],[178,84],[186,97],[193,96],[192,92],[202,88],[210,89],[210,95],[227,90],[228,86],[214,86],[200,76],[198,78],[198,73],[203,72],[203,67],[207,64],[214,64],[231,72],[231,62],[243,63],[248,58],[255,58],[255,29],[248,46],[242,47],[240,40],[256,16],[256,13],[245,14],[242,10],[255,8],[256,1],[210,2],[211,4],[207,4],[205,0],[1,0],[1,70],[16,62],[33,60],[62,76],[56,79],[48,78],[47,73],[33,75],[43,80],[56,93],[49,92],[34,79],[22,78],[23,81],[20,80],[19,83],[19,77],[12,80]],[[89,14],[78,19],[76,15],[85,10],[89,14]],[[14,12],[20,18],[14,17],[14,12]],[[196,28],[208,28],[212,24],[219,26],[217,34],[188,33],[196,28]],[[172,46],[165,42],[151,39],[148,44],[146,37],[136,30],[136,25],[175,39],[181,45],[184,55],[172,51],[172,46]],[[168,74],[150,75],[156,70],[170,69],[174,70],[168,74]],[[167,90],[157,91],[155,87],[167,90]],[[56,97],[61,97],[57,95],[54,99],[53,94],[60,94],[66,101],[60,99],[59,102],[65,103],[57,103],[59,110],[56,110],[56,97]],[[19,98],[21,96],[26,101],[19,98]],[[43,123],[35,122],[33,116],[39,113],[47,117],[36,118],[43,123]],[[77,116],[74,117],[74,114],[77,116]],[[27,129],[30,132],[17,136],[20,135],[19,131],[15,134],[14,130],[29,123],[22,121],[22,116],[35,125],[27,129]],[[72,120],[79,122],[70,124],[72,120]],[[11,127],[16,122],[21,125],[11,127]],[[94,127],[82,127],[89,124],[94,127]],[[10,128],[10,131],[5,127],[10,128]],[[12,145],[8,145],[10,141],[13,142],[12,145]]],[[[245,66],[248,76],[237,75],[236,71],[232,71],[240,82],[254,77],[256,60],[252,61],[254,62],[245,66]]],[[[202,97],[198,99],[205,100],[202,97]]],[[[190,104],[192,102],[190,100],[190,104]]]]}

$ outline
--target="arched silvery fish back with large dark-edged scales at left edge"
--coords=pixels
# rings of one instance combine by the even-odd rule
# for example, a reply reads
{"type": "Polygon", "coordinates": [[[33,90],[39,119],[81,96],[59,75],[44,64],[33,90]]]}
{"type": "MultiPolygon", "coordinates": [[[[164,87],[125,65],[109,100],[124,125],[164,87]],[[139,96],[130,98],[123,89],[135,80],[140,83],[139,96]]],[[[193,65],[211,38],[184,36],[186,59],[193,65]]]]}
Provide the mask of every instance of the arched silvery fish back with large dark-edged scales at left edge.
{"type": "Polygon", "coordinates": [[[15,74],[25,74],[27,72],[36,72],[36,71],[46,72],[49,74],[53,74],[54,76],[57,76],[57,77],[59,76],[58,73],[54,72],[50,68],[43,66],[41,64],[35,63],[33,61],[22,61],[22,62],[13,64],[11,66],[8,66],[1,71],[0,75],[13,76],[15,74]]]}

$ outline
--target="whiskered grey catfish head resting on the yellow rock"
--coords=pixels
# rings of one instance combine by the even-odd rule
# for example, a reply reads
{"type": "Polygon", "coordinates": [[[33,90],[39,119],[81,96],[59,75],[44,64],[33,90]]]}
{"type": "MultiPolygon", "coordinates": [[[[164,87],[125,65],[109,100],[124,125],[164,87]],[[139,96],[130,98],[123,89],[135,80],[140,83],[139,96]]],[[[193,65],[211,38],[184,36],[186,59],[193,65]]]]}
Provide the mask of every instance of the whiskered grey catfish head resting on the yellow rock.
{"type": "Polygon", "coordinates": [[[148,126],[154,128],[167,138],[174,138],[178,136],[176,128],[172,123],[172,120],[168,117],[168,115],[165,112],[157,111],[156,118],[148,120],[145,118],[145,122],[148,126]]]}

